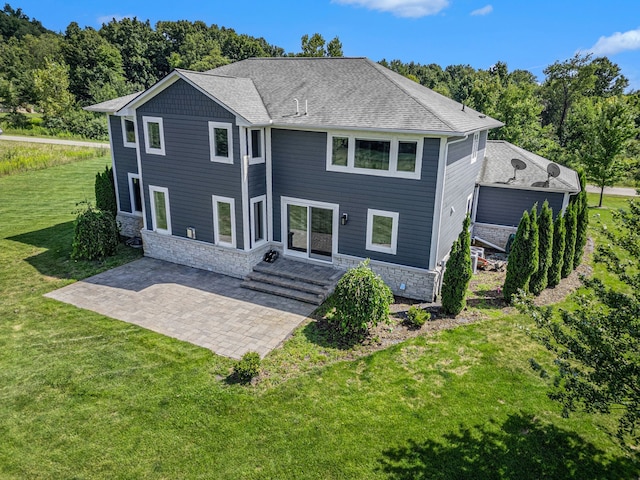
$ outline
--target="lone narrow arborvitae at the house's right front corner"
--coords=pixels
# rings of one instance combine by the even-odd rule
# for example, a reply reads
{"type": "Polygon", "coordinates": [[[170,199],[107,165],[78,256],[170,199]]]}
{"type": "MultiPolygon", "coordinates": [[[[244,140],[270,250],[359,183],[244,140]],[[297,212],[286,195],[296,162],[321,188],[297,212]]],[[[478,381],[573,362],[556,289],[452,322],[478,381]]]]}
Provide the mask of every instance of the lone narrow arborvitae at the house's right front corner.
{"type": "Polygon", "coordinates": [[[451,248],[442,279],[442,311],[448,315],[457,315],[467,305],[467,288],[473,275],[470,224],[471,219],[467,215],[462,223],[462,231],[451,248]]]}

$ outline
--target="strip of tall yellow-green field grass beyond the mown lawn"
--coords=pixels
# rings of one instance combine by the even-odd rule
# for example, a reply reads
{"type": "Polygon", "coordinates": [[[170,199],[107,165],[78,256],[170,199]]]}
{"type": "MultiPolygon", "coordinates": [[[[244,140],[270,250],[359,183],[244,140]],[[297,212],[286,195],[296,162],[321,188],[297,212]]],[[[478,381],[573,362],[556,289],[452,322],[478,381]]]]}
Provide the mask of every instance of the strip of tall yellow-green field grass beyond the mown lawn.
{"type": "Polygon", "coordinates": [[[102,158],[108,153],[109,150],[105,148],[1,142],[0,177],[90,158],[102,158]]]}

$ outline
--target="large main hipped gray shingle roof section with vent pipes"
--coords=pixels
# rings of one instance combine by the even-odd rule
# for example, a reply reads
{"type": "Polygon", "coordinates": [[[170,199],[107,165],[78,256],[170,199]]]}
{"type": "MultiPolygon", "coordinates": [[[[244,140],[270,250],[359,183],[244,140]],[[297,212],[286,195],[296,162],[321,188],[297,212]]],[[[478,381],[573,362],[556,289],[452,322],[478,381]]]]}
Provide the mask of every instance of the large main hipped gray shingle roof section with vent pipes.
{"type": "Polygon", "coordinates": [[[276,125],[448,134],[502,125],[366,58],[251,58],[208,73],[251,78],[276,125]]]}

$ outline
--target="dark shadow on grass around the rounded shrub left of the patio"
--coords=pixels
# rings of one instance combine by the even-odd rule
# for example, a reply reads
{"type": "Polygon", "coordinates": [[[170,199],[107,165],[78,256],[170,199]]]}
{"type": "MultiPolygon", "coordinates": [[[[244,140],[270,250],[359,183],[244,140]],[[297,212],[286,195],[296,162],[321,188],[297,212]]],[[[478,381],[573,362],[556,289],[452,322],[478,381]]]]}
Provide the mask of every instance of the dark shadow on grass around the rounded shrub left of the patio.
{"type": "Polygon", "coordinates": [[[116,255],[104,260],[72,260],[73,223],[73,221],[59,223],[41,230],[15,235],[7,240],[44,249],[43,252],[26,258],[25,261],[42,275],[60,279],[80,280],[142,255],[141,250],[119,244],[116,255]]]}

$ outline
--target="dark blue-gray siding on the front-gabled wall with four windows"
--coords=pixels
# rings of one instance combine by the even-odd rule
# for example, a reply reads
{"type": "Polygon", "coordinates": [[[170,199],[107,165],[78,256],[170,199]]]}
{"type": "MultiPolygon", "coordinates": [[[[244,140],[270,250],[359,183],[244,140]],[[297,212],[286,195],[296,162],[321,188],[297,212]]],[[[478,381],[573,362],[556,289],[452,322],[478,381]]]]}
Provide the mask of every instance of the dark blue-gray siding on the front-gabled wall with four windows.
{"type": "Polygon", "coordinates": [[[169,190],[172,234],[186,237],[195,227],[197,240],[213,243],[212,195],[235,199],[236,245],[243,248],[240,141],[235,116],[183,80],[137,110],[147,225],[152,228],[149,186],[169,190]],[[166,155],[145,153],[142,117],[163,119],[166,155]],[[233,164],[212,162],[208,122],[233,125],[233,164]]]}

